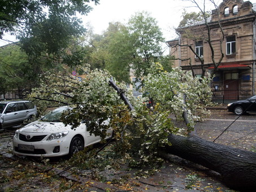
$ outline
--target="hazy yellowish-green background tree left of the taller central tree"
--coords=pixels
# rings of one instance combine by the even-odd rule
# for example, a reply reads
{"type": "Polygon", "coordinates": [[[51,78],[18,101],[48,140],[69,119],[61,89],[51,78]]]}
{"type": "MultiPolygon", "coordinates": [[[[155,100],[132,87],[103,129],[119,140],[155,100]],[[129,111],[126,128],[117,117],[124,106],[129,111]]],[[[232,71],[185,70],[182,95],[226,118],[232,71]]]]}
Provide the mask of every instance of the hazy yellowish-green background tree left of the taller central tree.
{"type": "Polygon", "coordinates": [[[86,34],[85,46],[90,50],[87,62],[91,69],[107,69],[112,76],[127,83],[133,47],[127,27],[120,22],[109,23],[102,35],[86,34]]]}

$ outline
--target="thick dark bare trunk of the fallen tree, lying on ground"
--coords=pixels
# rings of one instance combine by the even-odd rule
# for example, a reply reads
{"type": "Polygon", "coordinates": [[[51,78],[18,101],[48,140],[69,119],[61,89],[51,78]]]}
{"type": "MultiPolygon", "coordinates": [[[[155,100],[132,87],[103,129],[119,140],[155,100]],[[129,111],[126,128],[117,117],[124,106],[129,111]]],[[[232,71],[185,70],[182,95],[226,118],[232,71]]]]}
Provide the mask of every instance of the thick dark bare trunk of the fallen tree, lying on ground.
{"type": "Polygon", "coordinates": [[[206,141],[199,137],[170,134],[167,153],[201,164],[223,176],[229,187],[241,191],[256,189],[256,153],[206,141]]]}

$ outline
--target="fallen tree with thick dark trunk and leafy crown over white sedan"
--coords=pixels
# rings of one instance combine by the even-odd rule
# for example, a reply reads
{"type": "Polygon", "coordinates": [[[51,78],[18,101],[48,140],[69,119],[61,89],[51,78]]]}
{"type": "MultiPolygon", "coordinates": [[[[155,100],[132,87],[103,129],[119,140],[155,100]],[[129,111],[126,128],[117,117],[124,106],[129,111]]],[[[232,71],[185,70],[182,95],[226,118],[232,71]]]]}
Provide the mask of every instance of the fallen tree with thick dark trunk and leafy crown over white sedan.
{"type": "MultiPolygon", "coordinates": [[[[157,71],[159,71],[159,68],[157,68],[157,71]]],[[[141,148],[137,149],[133,146],[137,150],[137,158],[145,159],[145,162],[152,160],[158,154],[157,152],[161,150],[222,174],[225,184],[233,189],[253,190],[256,187],[256,154],[206,141],[199,138],[196,130],[194,130],[193,119],[199,119],[195,114],[198,111],[200,113],[204,111],[198,110],[198,107],[200,107],[198,103],[206,102],[206,98],[210,97],[208,95],[209,91],[207,91],[209,89],[208,81],[201,79],[199,82],[196,78],[179,69],[173,70],[172,73],[158,72],[153,76],[150,75],[148,81],[150,84],[145,85],[145,88],[149,90],[150,97],[155,99],[155,103],[157,103],[155,110],[157,112],[152,113],[150,110],[145,110],[145,106],[142,106],[141,116],[140,111],[137,111],[140,108],[134,106],[140,101],[133,101],[134,98],[131,95],[126,97],[125,86],[119,88],[114,80],[109,81],[107,72],[88,73],[88,77],[84,81],[67,77],[63,81],[65,86],[60,86],[58,81],[62,79],[59,78],[62,76],[55,76],[56,83],[43,84],[41,89],[34,89],[30,97],[31,99],[42,98],[46,102],[53,98],[55,102],[60,103],[62,101],[75,104],[77,107],[74,107],[74,111],[65,117],[65,123],[75,127],[84,118],[89,118],[88,130],[90,133],[100,135],[103,138],[106,135],[101,132],[106,130],[107,127],[99,127],[101,124],[98,124],[98,121],[112,119],[114,122],[110,124],[115,126],[113,129],[116,132],[116,141],[120,141],[119,145],[123,148],[118,148],[122,152],[128,150],[131,146],[130,144],[123,144],[126,137],[125,132],[130,127],[134,131],[133,136],[140,139],[140,141],[136,140],[136,142],[138,141],[136,144],[141,148]],[[167,81],[167,83],[162,81],[167,81]],[[120,97],[116,97],[116,91],[120,97]],[[59,95],[59,98],[57,98],[57,95],[59,95]],[[201,98],[204,100],[201,101],[201,98]],[[169,108],[172,111],[168,111],[169,108]],[[131,111],[130,114],[128,113],[129,110],[131,111]],[[175,128],[168,129],[171,126],[169,124],[171,120],[167,118],[166,114],[170,114],[170,112],[175,114],[176,117],[183,117],[186,121],[188,126],[186,136],[176,135],[177,129],[175,128]],[[133,117],[133,115],[135,116],[133,117]],[[149,121],[140,121],[141,119],[149,121]],[[133,124],[131,121],[137,121],[138,123],[133,124]],[[146,129],[142,129],[140,132],[142,126],[146,129]],[[143,150],[146,152],[140,153],[143,150]]],[[[52,79],[53,75],[49,77],[52,79]]],[[[45,77],[45,79],[47,78],[45,77]]],[[[147,82],[147,78],[145,78],[145,82],[147,82]]],[[[41,99],[37,101],[42,102],[41,99]]],[[[37,106],[40,106],[40,103],[37,103],[37,106]]]]}

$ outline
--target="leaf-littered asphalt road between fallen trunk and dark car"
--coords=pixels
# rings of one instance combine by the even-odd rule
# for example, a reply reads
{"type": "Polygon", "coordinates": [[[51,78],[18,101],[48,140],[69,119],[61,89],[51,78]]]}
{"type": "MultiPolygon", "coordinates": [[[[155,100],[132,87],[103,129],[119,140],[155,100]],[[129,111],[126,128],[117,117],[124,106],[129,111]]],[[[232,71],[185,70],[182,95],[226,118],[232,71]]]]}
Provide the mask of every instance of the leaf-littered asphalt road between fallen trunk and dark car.
{"type": "Polygon", "coordinates": [[[211,110],[211,116],[196,124],[198,136],[223,145],[256,150],[256,114],[237,116],[227,110],[211,110]],[[221,134],[221,135],[220,135],[221,134]]]}

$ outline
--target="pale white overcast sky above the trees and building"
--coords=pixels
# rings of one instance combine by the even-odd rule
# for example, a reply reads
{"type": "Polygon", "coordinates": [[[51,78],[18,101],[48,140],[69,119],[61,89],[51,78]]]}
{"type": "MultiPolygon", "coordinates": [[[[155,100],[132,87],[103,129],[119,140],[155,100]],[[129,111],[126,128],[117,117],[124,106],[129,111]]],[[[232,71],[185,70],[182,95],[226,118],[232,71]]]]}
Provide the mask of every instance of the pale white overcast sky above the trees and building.
{"type": "MultiPolygon", "coordinates": [[[[179,25],[184,9],[187,12],[198,12],[198,8],[192,8],[189,1],[182,0],[100,0],[99,2],[100,4],[97,6],[94,6],[94,3],[90,4],[93,10],[88,16],[83,17],[84,24],[89,22],[94,28],[94,33],[101,34],[103,30],[107,29],[109,22],[120,21],[126,24],[136,12],[147,11],[157,19],[166,41],[176,37],[173,27],[176,28],[179,25]]],[[[215,2],[219,5],[223,0],[215,2]]],[[[256,3],[256,0],[250,2],[256,3]]],[[[207,8],[214,9],[210,5],[207,8]]],[[[10,40],[9,36],[5,38],[10,40]]],[[[15,40],[15,38],[11,40],[15,40]]],[[[5,41],[0,40],[0,46],[5,44],[5,41]]]]}

